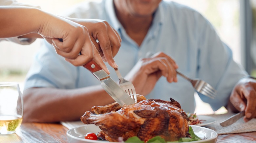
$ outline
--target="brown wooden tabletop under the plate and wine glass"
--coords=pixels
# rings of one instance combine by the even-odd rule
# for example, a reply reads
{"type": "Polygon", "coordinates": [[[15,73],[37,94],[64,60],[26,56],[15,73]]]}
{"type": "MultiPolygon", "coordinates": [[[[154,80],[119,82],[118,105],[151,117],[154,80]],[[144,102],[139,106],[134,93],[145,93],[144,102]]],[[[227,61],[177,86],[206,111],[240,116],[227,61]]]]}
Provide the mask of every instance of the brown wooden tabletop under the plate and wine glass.
{"type": "MultiPolygon", "coordinates": [[[[22,123],[16,134],[0,135],[0,143],[67,143],[68,129],[61,124],[22,123]]],[[[255,143],[256,132],[219,135],[217,143],[255,143]]]]}

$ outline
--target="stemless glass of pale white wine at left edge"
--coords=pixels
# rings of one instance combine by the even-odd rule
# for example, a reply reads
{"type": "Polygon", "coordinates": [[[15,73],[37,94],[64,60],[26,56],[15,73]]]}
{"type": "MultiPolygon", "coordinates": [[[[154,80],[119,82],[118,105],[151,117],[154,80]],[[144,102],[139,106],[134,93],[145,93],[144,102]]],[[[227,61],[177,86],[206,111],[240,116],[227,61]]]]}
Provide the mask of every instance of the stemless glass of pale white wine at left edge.
{"type": "Polygon", "coordinates": [[[0,82],[0,134],[15,133],[23,117],[23,100],[18,83],[0,82]]]}

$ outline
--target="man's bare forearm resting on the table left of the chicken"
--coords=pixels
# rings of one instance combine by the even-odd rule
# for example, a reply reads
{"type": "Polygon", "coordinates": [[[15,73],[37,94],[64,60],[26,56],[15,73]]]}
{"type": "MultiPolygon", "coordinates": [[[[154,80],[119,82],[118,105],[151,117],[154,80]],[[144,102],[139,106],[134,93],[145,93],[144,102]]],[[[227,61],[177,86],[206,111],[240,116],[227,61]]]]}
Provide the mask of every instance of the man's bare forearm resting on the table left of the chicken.
{"type": "Polygon", "coordinates": [[[30,88],[23,92],[25,122],[58,122],[79,120],[96,105],[115,101],[102,87],[77,89],[30,88]]]}

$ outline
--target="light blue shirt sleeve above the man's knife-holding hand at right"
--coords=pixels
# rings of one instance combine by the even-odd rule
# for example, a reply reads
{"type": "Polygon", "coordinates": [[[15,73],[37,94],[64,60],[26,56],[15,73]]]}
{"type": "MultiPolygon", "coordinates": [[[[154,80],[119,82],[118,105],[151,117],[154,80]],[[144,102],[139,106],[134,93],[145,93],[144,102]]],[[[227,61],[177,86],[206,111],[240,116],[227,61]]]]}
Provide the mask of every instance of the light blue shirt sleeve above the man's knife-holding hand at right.
{"type": "Polygon", "coordinates": [[[199,21],[203,28],[199,32],[197,76],[217,90],[217,97],[212,100],[200,93],[199,96],[216,111],[227,104],[235,84],[248,73],[233,60],[231,49],[222,42],[213,26],[203,17],[199,21]]]}

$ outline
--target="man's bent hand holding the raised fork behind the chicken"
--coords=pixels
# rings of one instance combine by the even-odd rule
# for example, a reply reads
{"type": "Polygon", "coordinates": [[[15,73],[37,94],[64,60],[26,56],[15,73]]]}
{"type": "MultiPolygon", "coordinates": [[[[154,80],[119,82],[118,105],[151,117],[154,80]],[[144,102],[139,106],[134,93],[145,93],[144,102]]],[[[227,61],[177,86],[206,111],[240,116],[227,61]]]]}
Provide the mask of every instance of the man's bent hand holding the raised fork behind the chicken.
{"type": "Polygon", "coordinates": [[[170,83],[177,82],[177,68],[170,56],[159,52],[150,58],[139,60],[125,79],[133,83],[137,94],[147,95],[161,76],[165,76],[170,83]]]}

